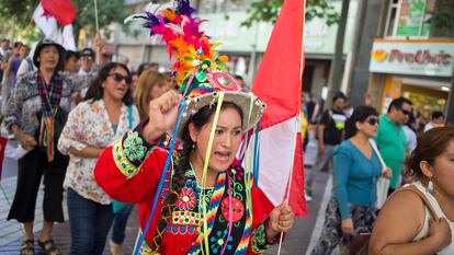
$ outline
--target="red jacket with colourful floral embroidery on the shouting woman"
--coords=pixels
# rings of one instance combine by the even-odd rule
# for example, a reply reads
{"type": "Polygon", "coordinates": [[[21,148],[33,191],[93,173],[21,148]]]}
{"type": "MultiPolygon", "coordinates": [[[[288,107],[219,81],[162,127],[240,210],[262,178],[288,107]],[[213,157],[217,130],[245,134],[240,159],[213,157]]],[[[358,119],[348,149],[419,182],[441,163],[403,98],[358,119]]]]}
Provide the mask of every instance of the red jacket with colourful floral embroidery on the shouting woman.
{"type": "MultiPolygon", "coordinates": [[[[168,155],[168,150],[159,146],[162,141],[149,144],[141,137],[141,126],[143,124],[109,147],[94,169],[94,178],[106,194],[118,201],[138,204],[140,232],[151,212],[168,155]]],[[[163,188],[140,254],[156,252],[155,233],[164,197],[171,192],[169,187],[170,171],[166,173],[163,188]]],[[[223,250],[224,254],[260,254],[270,246],[265,241],[264,220],[272,208],[263,193],[252,185],[252,181],[246,179],[240,166],[232,165],[219,173],[216,186],[203,189],[198,186],[193,170],[188,170],[184,187],[167,220],[159,254],[202,254],[201,244],[203,247],[207,245],[211,254],[222,254],[223,250]],[[231,188],[231,196],[228,187],[231,188]],[[203,204],[198,199],[201,192],[204,195],[202,200],[206,204],[207,239],[204,237],[205,234],[200,234],[204,231],[203,204]],[[252,206],[248,206],[250,204],[252,206]],[[228,234],[230,219],[231,233],[228,234]]]]}

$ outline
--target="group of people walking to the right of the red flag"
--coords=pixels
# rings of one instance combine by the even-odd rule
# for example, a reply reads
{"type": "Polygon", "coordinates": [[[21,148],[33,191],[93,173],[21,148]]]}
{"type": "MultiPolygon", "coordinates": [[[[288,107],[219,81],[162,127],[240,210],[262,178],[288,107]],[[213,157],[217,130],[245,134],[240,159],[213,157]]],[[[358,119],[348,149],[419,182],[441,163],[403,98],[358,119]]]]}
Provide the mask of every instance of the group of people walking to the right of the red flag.
{"type": "Polygon", "coordinates": [[[338,245],[348,251],[354,236],[367,233],[372,233],[370,254],[453,253],[454,208],[447,200],[454,193],[447,178],[454,128],[446,127],[438,111],[431,121],[417,124],[419,113],[406,97],[393,100],[383,115],[367,105],[351,111],[343,93],[336,93],[331,108],[320,112],[320,104],[306,97],[302,109],[316,127],[318,144],[315,164],[305,170],[307,201],[316,174],[331,167],[333,172],[332,196],[311,254],[331,254],[338,245]],[[379,186],[381,178],[388,179],[386,189],[379,186]],[[388,199],[383,205],[378,197],[388,199]]]}

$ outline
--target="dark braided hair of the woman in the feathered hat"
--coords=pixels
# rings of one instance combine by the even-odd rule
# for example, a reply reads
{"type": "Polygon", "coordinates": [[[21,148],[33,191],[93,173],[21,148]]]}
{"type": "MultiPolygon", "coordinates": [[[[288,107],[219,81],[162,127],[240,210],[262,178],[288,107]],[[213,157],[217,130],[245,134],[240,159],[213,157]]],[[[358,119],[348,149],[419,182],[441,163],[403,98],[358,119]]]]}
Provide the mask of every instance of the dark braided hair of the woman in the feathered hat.
{"type": "MultiPolygon", "coordinates": [[[[242,119],[243,114],[242,114],[241,108],[238,105],[230,103],[230,102],[225,102],[222,105],[222,109],[226,109],[226,108],[236,109],[242,119]]],[[[166,230],[167,221],[171,219],[172,211],[177,202],[178,196],[181,189],[184,187],[184,179],[185,179],[184,175],[186,171],[191,169],[190,155],[194,148],[194,142],[192,141],[191,136],[190,136],[189,125],[192,123],[195,129],[200,130],[204,125],[211,121],[215,111],[216,111],[216,104],[213,106],[206,105],[202,107],[191,118],[191,120],[188,121],[188,124],[185,125],[183,129],[183,134],[181,136],[181,140],[183,142],[183,149],[180,152],[181,158],[179,162],[177,163],[177,165],[174,166],[174,173],[172,177],[172,188],[169,193],[169,196],[166,198],[163,202],[161,218],[158,221],[158,225],[156,228],[156,233],[154,237],[154,243],[157,248],[159,247],[161,243],[161,237],[162,237],[163,231],[166,230]]]]}

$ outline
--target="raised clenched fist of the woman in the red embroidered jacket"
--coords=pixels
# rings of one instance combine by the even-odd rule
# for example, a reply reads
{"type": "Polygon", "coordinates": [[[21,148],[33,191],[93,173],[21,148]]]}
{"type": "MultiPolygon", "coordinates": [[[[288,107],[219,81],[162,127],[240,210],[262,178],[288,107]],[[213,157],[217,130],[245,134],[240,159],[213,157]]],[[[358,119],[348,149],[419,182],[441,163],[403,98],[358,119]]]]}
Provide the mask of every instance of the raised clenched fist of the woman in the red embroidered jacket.
{"type": "Polygon", "coordinates": [[[181,94],[168,91],[150,102],[148,107],[149,120],[144,127],[143,134],[145,139],[155,141],[175,125],[181,100],[181,94]]]}

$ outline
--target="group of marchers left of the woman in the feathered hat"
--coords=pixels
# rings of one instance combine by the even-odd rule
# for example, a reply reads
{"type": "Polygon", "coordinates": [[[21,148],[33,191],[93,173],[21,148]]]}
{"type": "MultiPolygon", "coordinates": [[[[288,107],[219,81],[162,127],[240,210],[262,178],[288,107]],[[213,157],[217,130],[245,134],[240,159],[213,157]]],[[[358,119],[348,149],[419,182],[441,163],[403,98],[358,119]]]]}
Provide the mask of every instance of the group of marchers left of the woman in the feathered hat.
{"type": "MultiPolygon", "coordinates": [[[[8,216],[24,228],[20,254],[35,254],[35,242],[46,254],[61,254],[52,231],[55,222],[66,220],[64,193],[69,254],[102,254],[107,240],[113,255],[124,254],[122,243],[134,204],[114,200],[92,173],[109,144],[155,114],[149,112],[150,102],[178,91],[174,76],[159,72],[155,62],[144,62],[137,71],[120,62],[97,63],[103,47],[100,36],[93,48],[80,51],[43,39],[33,56],[29,46],[16,42],[11,49],[9,44],[8,39],[0,43],[2,125],[26,151],[18,161],[18,187],[8,216]],[[43,177],[44,223],[35,240],[35,205],[43,177]]],[[[243,85],[241,77],[237,81],[243,85]]]]}

